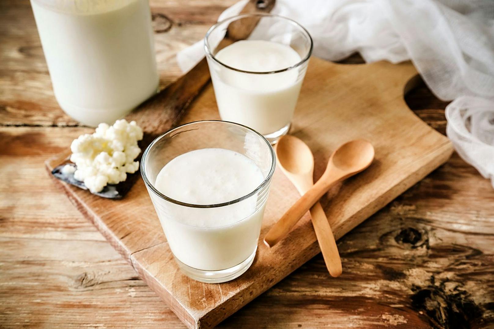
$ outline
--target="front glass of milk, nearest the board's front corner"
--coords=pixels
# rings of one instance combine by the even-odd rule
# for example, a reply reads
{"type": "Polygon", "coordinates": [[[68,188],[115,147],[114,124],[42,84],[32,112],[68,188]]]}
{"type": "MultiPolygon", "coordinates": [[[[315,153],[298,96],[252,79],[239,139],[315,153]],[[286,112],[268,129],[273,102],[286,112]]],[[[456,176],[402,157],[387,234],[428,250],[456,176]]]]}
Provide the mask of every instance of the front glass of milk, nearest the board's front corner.
{"type": "Polygon", "coordinates": [[[220,283],[252,264],[276,157],[237,123],[187,123],[156,138],[141,174],[167,243],[190,278],[220,283]]]}

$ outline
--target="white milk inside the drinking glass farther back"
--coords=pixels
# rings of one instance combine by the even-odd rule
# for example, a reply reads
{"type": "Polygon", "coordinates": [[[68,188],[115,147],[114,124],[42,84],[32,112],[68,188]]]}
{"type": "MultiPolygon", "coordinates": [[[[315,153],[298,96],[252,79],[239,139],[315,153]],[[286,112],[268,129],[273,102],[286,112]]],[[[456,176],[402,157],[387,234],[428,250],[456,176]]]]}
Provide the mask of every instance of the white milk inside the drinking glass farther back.
{"type": "MultiPolygon", "coordinates": [[[[249,72],[283,70],[301,60],[288,45],[263,40],[237,41],[215,57],[223,64],[249,72]]],[[[222,120],[247,125],[263,135],[290,123],[303,80],[297,69],[246,74],[220,65],[215,68],[211,77],[222,120]]]]}

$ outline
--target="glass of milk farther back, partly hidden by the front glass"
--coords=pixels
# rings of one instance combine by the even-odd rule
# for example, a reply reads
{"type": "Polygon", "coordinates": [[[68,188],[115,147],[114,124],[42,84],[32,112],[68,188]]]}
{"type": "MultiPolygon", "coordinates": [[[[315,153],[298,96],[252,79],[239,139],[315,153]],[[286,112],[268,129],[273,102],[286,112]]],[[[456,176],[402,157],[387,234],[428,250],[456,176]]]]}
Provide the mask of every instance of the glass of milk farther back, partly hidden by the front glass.
{"type": "Polygon", "coordinates": [[[312,53],[307,30],[282,16],[243,14],[213,25],[205,51],[221,120],[247,125],[276,143],[290,128],[312,53]],[[225,35],[236,37],[228,36],[229,26],[252,20],[258,24],[247,40],[220,43],[225,35]]]}

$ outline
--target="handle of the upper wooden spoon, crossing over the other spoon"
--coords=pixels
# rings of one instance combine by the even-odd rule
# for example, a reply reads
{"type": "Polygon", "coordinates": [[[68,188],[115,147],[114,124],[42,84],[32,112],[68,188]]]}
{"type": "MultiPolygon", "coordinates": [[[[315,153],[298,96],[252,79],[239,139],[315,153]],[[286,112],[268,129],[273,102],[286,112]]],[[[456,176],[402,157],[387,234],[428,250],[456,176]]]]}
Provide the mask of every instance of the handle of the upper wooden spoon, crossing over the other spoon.
{"type": "Polygon", "coordinates": [[[329,188],[339,180],[341,176],[332,176],[329,179],[319,179],[314,186],[307,191],[287,212],[271,227],[264,237],[264,243],[268,247],[276,245],[291,228],[321,197],[328,192],[329,188]]]}

